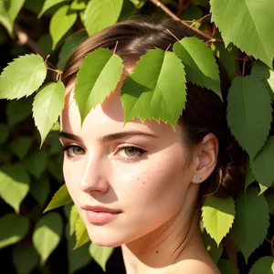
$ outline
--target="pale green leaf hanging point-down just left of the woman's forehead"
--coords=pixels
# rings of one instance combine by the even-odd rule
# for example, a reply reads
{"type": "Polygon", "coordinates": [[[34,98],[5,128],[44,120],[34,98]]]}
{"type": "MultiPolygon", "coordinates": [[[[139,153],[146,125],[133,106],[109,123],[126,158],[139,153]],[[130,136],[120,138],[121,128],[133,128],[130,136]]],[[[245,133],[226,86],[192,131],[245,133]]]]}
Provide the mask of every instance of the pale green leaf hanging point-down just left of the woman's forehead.
{"type": "Polygon", "coordinates": [[[65,104],[65,86],[61,81],[48,83],[37,93],[33,102],[33,117],[41,135],[41,144],[45,142],[47,133],[58,121],[59,114],[65,104]]]}

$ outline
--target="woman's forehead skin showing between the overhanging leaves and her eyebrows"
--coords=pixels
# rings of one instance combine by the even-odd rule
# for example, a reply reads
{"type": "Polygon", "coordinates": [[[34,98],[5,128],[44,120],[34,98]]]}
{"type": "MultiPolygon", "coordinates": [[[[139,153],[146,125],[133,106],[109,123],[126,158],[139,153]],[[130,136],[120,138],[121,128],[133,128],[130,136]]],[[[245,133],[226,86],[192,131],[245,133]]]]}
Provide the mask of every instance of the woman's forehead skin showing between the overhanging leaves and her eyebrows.
{"type": "Polygon", "coordinates": [[[142,131],[160,135],[163,138],[182,140],[182,127],[176,125],[175,131],[170,124],[154,120],[140,121],[138,118],[124,124],[124,111],[121,105],[121,85],[118,83],[111,95],[96,108],[92,109],[81,125],[78,106],[74,100],[74,82],[67,87],[65,107],[61,115],[61,129],[82,138],[102,136],[115,132],[142,131]]]}

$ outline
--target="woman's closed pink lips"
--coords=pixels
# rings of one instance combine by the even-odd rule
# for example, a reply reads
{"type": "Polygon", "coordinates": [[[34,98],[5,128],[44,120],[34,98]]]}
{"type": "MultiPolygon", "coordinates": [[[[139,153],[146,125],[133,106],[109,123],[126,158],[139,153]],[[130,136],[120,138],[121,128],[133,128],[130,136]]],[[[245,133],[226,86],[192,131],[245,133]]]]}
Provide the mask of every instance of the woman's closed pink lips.
{"type": "Polygon", "coordinates": [[[121,210],[111,209],[100,205],[81,206],[86,212],[86,217],[92,225],[105,225],[121,214],[121,210]]]}

